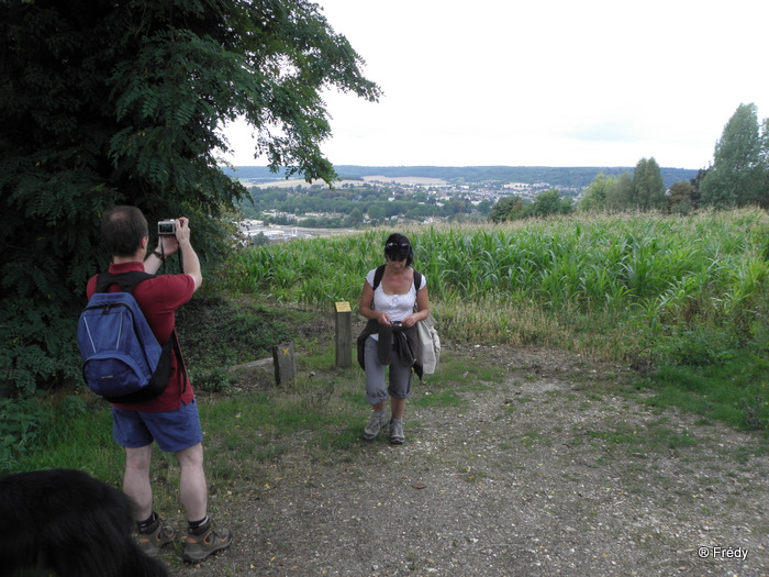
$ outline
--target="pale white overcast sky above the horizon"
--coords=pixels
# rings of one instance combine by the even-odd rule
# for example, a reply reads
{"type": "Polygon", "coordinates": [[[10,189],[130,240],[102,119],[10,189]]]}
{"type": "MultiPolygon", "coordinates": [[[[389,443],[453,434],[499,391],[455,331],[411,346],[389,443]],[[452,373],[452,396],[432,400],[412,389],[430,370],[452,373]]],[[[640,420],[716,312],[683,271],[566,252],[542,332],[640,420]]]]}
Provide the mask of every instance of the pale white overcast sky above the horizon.
{"type": "Polygon", "coordinates": [[[740,103],[769,116],[766,0],[317,3],[384,92],[326,95],[335,165],[701,168],[740,103]]]}

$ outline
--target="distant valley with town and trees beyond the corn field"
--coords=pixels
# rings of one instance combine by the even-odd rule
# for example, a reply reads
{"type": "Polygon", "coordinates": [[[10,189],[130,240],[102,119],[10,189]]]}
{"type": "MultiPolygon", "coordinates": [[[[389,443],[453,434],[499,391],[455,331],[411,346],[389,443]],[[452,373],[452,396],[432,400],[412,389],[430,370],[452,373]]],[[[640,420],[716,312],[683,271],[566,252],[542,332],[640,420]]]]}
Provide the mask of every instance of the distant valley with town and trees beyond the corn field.
{"type": "MultiPolygon", "coordinates": [[[[633,169],[336,167],[336,170],[339,179],[328,186],[322,181],[281,178],[263,167],[236,168],[232,176],[246,187],[250,197],[239,206],[242,233],[254,244],[267,244],[388,223],[486,221],[502,198],[515,196],[523,202],[533,202],[543,191],[557,190],[564,202],[575,203],[599,173],[611,176],[633,169]]],[[[666,184],[696,174],[688,169],[665,171],[666,184]]]]}

